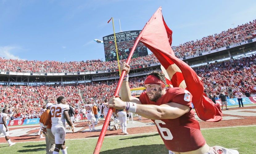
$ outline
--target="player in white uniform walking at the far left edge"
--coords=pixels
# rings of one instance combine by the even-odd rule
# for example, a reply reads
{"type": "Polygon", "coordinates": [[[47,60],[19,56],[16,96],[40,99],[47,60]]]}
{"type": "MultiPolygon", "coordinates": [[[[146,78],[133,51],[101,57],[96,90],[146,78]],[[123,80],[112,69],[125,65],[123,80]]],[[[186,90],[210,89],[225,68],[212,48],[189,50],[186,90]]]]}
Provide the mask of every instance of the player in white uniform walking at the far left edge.
{"type": "Polygon", "coordinates": [[[0,135],[1,133],[4,134],[6,141],[9,143],[9,146],[15,144],[15,142],[11,142],[9,137],[9,129],[7,127],[7,109],[3,109],[3,113],[0,114],[0,135]]]}

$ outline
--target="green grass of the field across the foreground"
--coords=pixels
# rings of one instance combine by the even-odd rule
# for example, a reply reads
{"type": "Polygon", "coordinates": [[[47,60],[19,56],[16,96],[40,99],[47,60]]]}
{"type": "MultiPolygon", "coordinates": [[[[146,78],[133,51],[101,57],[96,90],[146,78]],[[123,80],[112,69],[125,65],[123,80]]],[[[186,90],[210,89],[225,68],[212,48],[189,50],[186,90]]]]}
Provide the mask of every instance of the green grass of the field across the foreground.
{"type": "MultiPolygon", "coordinates": [[[[225,148],[237,149],[240,154],[256,153],[256,126],[204,129],[202,133],[209,146],[219,145],[225,148]]],[[[66,139],[67,151],[70,154],[91,154],[97,140],[98,138],[66,139]]],[[[0,144],[0,150],[8,154],[44,154],[45,142],[16,143],[11,147],[7,143],[0,144]]],[[[158,133],[148,133],[105,137],[100,153],[168,154],[168,150],[158,133]]]]}

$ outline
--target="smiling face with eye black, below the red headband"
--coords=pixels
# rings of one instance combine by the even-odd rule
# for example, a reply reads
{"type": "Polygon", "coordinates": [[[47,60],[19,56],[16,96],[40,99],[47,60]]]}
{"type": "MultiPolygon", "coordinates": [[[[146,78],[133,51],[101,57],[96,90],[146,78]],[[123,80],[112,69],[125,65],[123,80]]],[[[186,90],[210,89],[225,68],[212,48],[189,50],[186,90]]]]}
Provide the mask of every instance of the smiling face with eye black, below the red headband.
{"type": "Polygon", "coordinates": [[[145,88],[150,101],[157,101],[162,96],[161,85],[146,84],[145,88]]]}

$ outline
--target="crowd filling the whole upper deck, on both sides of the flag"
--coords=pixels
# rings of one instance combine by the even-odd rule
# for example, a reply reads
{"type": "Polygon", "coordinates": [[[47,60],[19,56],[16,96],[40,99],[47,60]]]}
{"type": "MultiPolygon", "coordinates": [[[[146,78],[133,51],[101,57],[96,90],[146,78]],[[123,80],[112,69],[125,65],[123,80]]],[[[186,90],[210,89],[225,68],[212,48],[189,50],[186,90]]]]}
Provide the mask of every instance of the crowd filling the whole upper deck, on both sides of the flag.
{"type": "MultiPolygon", "coordinates": [[[[247,41],[256,37],[256,19],[252,22],[237,26],[236,28],[222,31],[220,34],[209,35],[201,40],[189,41],[179,46],[172,46],[175,55],[179,58],[194,54],[207,52],[224,46],[247,41]]],[[[121,59],[119,62],[125,62],[121,59]]],[[[159,61],[151,54],[142,57],[132,58],[131,67],[155,64],[159,61]]],[[[23,72],[23,73],[72,73],[72,72],[94,72],[118,69],[117,61],[27,61],[20,59],[5,59],[0,57],[1,72],[23,72]]]]}

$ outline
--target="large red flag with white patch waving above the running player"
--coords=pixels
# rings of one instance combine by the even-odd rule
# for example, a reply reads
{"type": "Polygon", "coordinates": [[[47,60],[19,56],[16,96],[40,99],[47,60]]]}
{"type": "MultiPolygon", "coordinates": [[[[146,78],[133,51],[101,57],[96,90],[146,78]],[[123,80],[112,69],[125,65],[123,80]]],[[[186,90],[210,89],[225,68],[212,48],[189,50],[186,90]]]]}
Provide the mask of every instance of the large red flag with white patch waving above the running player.
{"type": "Polygon", "coordinates": [[[198,117],[204,121],[219,121],[222,112],[204,93],[202,81],[184,61],[175,57],[171,49],[172,31],[166,25],[160,7],[142,30],[140,41],[150,49],[163,66],[162,70],[173,87],[187,89],[198,117]]]}

